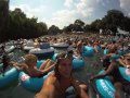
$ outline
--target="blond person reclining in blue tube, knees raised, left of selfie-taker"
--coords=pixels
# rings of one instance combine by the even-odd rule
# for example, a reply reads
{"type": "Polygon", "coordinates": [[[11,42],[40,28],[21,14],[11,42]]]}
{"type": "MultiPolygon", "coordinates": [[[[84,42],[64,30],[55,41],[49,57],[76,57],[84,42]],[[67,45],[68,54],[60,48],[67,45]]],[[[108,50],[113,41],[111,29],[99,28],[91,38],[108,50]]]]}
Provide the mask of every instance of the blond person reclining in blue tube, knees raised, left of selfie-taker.
{"type": "Polygon", "coordinates": [[[26,54],[24,59],[25,60],[23,63],[13,63],[13,66],[15,66],[18,70],[23,70],[31,77],[42,76],[54,68],[54,62],[50,59],[43,62],[39,69],[37,69],[37,57],[35,54],[26,54]]]}

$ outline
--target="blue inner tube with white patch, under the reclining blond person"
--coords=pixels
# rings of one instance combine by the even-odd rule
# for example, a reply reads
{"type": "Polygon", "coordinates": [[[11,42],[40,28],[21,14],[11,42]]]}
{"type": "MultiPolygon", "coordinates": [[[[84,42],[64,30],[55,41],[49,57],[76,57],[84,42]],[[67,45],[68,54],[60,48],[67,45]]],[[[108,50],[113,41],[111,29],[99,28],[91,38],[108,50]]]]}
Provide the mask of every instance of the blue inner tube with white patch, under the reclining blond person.
{"type": "MultiPolygon", "coordinates": [[[[44,61],[38,61],[37,68],[40,68],[44,61]]],[[[43,85],[44,79],[48,77],[48,75],[44,75],[42,77],[30,77],[28,74],[21,72],[20,73],[20,82],[21,85],[30,90],[30,91],[39,91],[43,85]]]]}

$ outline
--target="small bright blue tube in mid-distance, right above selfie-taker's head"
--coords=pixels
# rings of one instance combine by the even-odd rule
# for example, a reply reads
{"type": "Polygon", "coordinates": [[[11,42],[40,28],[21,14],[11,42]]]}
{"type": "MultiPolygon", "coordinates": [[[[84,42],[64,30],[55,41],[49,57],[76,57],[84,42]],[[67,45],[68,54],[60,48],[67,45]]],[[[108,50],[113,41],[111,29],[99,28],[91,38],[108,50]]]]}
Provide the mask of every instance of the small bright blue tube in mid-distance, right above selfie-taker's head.
{"type": "Polygon", "coordinates": [[[94,54],[94,48],[93,47],[89,47],[89,46],[84,46],[82,49],[82,56],[83,57],[93,57],[94,54]]]}

